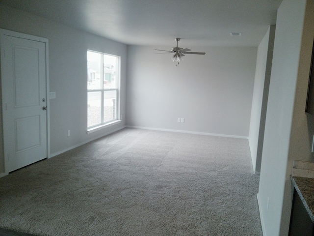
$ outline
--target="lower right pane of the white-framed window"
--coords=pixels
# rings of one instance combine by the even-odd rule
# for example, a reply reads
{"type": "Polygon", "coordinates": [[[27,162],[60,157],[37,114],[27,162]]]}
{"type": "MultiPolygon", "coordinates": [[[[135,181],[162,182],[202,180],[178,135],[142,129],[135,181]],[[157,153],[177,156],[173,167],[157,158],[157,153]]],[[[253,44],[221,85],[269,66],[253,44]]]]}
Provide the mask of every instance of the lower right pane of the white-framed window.
{"type": "Polygon", "coordinates": [[[116,119],[117,91],[104,91],[104,122],[116,119]]]}

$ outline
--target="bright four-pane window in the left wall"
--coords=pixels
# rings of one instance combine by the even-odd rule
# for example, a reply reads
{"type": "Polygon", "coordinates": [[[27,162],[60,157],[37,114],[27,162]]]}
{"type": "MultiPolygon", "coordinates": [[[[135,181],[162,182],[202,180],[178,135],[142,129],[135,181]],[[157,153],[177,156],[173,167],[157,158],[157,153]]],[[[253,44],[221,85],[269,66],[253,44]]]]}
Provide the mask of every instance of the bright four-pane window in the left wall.
{"type": "Polygon", "coordinates": [[[118,119],[120,57],[87,51],[87,129],[118,119]]]}

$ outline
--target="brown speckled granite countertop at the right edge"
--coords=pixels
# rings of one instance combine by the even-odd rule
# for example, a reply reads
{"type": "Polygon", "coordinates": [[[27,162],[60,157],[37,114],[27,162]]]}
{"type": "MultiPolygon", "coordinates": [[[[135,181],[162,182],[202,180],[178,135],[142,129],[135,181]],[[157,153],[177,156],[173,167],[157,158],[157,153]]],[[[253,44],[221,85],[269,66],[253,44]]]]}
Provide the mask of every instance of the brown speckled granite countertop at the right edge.
{"type": "Polygon", "coordinates": [[[292,183],[314,222],[314,178],[292,177],[292,183]]]}

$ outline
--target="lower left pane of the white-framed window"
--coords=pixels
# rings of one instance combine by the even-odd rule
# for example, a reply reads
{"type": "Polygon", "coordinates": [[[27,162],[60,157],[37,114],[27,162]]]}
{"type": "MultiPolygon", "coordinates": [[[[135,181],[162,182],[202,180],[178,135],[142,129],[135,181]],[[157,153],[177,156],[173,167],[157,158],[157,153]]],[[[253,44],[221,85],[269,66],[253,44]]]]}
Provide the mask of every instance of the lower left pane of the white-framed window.
{"type": "Polygon", "coordinates": [[[87,127],[101,124],[101,92],[87,93],[87,127]]]}

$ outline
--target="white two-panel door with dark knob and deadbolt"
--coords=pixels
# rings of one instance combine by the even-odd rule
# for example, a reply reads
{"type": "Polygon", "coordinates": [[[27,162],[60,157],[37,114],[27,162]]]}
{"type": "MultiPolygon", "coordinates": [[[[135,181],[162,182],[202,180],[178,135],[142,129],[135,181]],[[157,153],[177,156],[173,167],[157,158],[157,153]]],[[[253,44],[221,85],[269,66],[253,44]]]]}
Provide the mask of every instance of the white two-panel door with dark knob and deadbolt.
{"type": "Polygon", "coordinates": [[[8,173],[48,154],[46,43],[1,34],[0,46],[4,159],[8,173]]]}

